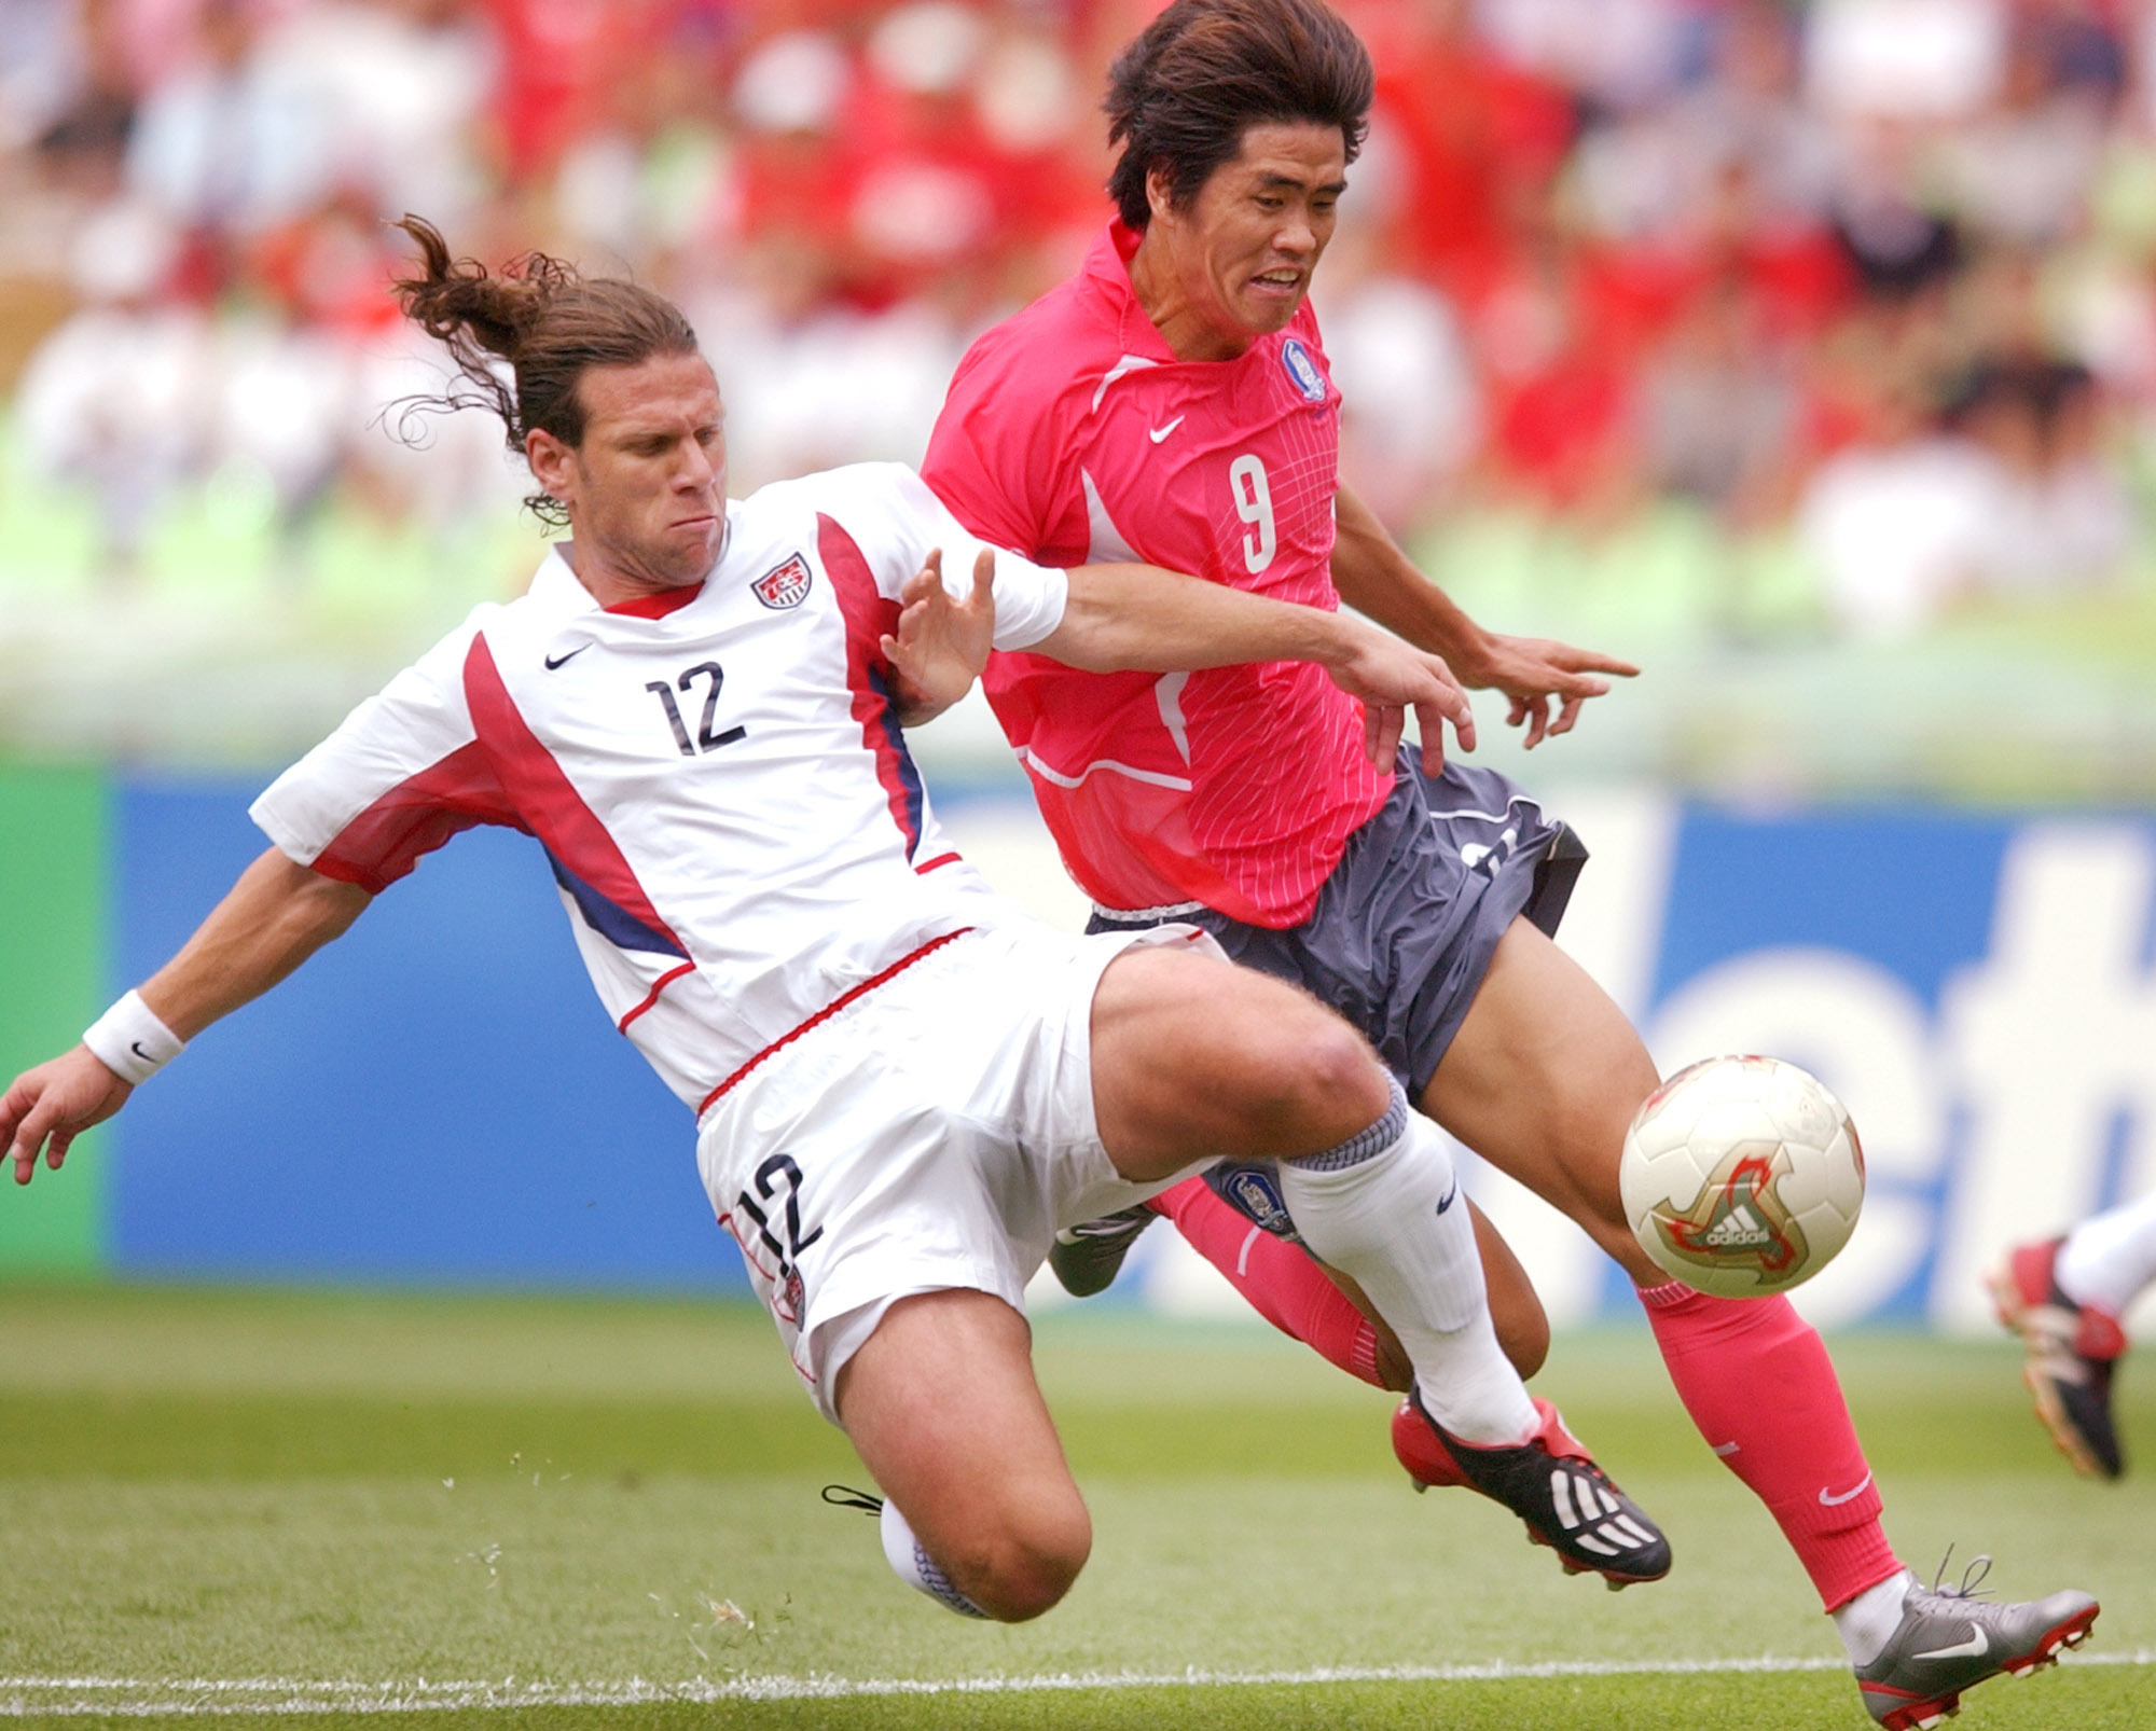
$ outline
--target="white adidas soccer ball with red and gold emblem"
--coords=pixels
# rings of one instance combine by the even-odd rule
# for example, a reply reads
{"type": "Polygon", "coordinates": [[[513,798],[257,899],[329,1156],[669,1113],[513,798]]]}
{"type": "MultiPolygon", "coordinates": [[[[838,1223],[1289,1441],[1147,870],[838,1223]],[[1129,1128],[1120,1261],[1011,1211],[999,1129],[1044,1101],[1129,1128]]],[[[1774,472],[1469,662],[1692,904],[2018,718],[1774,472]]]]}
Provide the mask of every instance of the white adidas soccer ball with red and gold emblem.
{"type": "Polygon", "coordinates": [[[1811,1071],[1708,1058],[1647,1095],[1617,1188],[1656,1268],[1718,1298],[1766,1298],[1809,1280],[1850,1242],[1865,1151],[1811,1071]]]}

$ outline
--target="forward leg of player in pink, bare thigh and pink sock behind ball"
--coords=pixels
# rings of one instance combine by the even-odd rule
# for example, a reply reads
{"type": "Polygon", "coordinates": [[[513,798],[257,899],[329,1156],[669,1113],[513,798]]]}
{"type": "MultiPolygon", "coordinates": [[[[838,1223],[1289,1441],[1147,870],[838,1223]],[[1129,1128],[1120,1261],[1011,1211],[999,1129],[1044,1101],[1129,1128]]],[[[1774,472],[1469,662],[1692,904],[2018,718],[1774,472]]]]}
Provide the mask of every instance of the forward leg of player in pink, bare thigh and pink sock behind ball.
{"type": "MultiPolygon", "coordinates": [[[[1692,1291],[1632,1237],[1617,1160],[1656,1084],[1623,1011],[1554,942],[1516,920],[1423,1091],[1423,1110],[1563,1209],[1632,1276],[1686,1412],[1774,1515],[1835,1617],[1867,1703],[1878,1705],[1865,1666],[1891,1656],[1923,1595],[1887,1543],[1878,1487],[1818,1330],[1787,1298],[1692,1291]]],[[[2093,1619],[2093,1600],[2085,1612],[2093,1619]]],[[[2042,1662],[2005,1651],[1981,1675],[2042,1662]]],[[[1964,1681],[1977,1677],[1953,1688],[1964,1681]]],[[[1940,1684],[1938,1699],[1947,1692],[1940,1684]]]]}

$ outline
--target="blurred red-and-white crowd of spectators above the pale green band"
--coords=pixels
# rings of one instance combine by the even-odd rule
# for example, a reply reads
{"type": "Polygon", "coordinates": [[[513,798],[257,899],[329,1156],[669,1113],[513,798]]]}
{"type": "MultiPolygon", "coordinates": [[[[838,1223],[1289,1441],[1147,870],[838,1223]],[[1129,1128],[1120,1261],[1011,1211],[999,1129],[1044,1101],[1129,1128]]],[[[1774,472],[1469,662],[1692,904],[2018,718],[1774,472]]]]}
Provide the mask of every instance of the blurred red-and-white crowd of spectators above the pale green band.
{"type": "MultiPolygon", "coordinates": [[[[1350,0],[1369,144],[1317,280],[1345,474],[1412,535],[1671,500],[1923,627],[2143,552],[2156,0],[1350,0]]],[[[737,489],[918,457],[966,341],[1106,220],[1147,0],[0,0],[17,466],[160,513],[522,491],[386,280],[418,211],[681,300],[737,489]],[[397,438],[407,433],[425,448],[397,438]]]]}

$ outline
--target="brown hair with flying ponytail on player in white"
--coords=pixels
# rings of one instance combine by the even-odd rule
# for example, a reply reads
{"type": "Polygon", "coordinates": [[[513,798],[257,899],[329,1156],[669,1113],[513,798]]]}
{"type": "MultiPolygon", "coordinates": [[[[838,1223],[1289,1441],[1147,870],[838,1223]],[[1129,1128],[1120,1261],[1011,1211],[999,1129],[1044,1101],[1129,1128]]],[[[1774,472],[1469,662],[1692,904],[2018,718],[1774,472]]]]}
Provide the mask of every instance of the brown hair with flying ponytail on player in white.
{"type": "MultiPolygon", "coordinates": [[[[440,397],[399,405],[399,435],[414,435],[414,414],[483,407],[502,418],[509,448],[545,431],[584,442],[578,379],[586,366],[636,366],[660,354],[696,354],[696,332],[681,308],[619,276],[582,276],[576,265],[526,252],[507,269],[453,259],[442,231],[418,216],[395,224],[418,246],[416,274],[392,282],[397,304],[440,341],[457,382],[440,397]],[[507,364],[505,364],[507,362],[507,364]]],[[[548,524],[567,524],[558,500],[524,500],[548,524]]]]}

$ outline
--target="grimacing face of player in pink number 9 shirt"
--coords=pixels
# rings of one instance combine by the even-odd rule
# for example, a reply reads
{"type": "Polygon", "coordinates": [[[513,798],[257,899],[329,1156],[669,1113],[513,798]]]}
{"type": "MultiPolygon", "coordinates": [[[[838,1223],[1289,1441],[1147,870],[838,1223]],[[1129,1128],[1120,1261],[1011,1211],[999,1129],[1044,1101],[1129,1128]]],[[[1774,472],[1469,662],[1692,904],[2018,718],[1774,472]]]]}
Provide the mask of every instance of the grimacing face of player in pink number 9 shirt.
{"type": "Polygon", "coordinates": [[[1153,194],[1151,229],[1192,310],[1240,354],[1283,330],[1311,291],[1311,272],[1332,239],[1348,151],[1339,127],[1268,121],[1244,131],[1188,209],[1153,194]]]}

